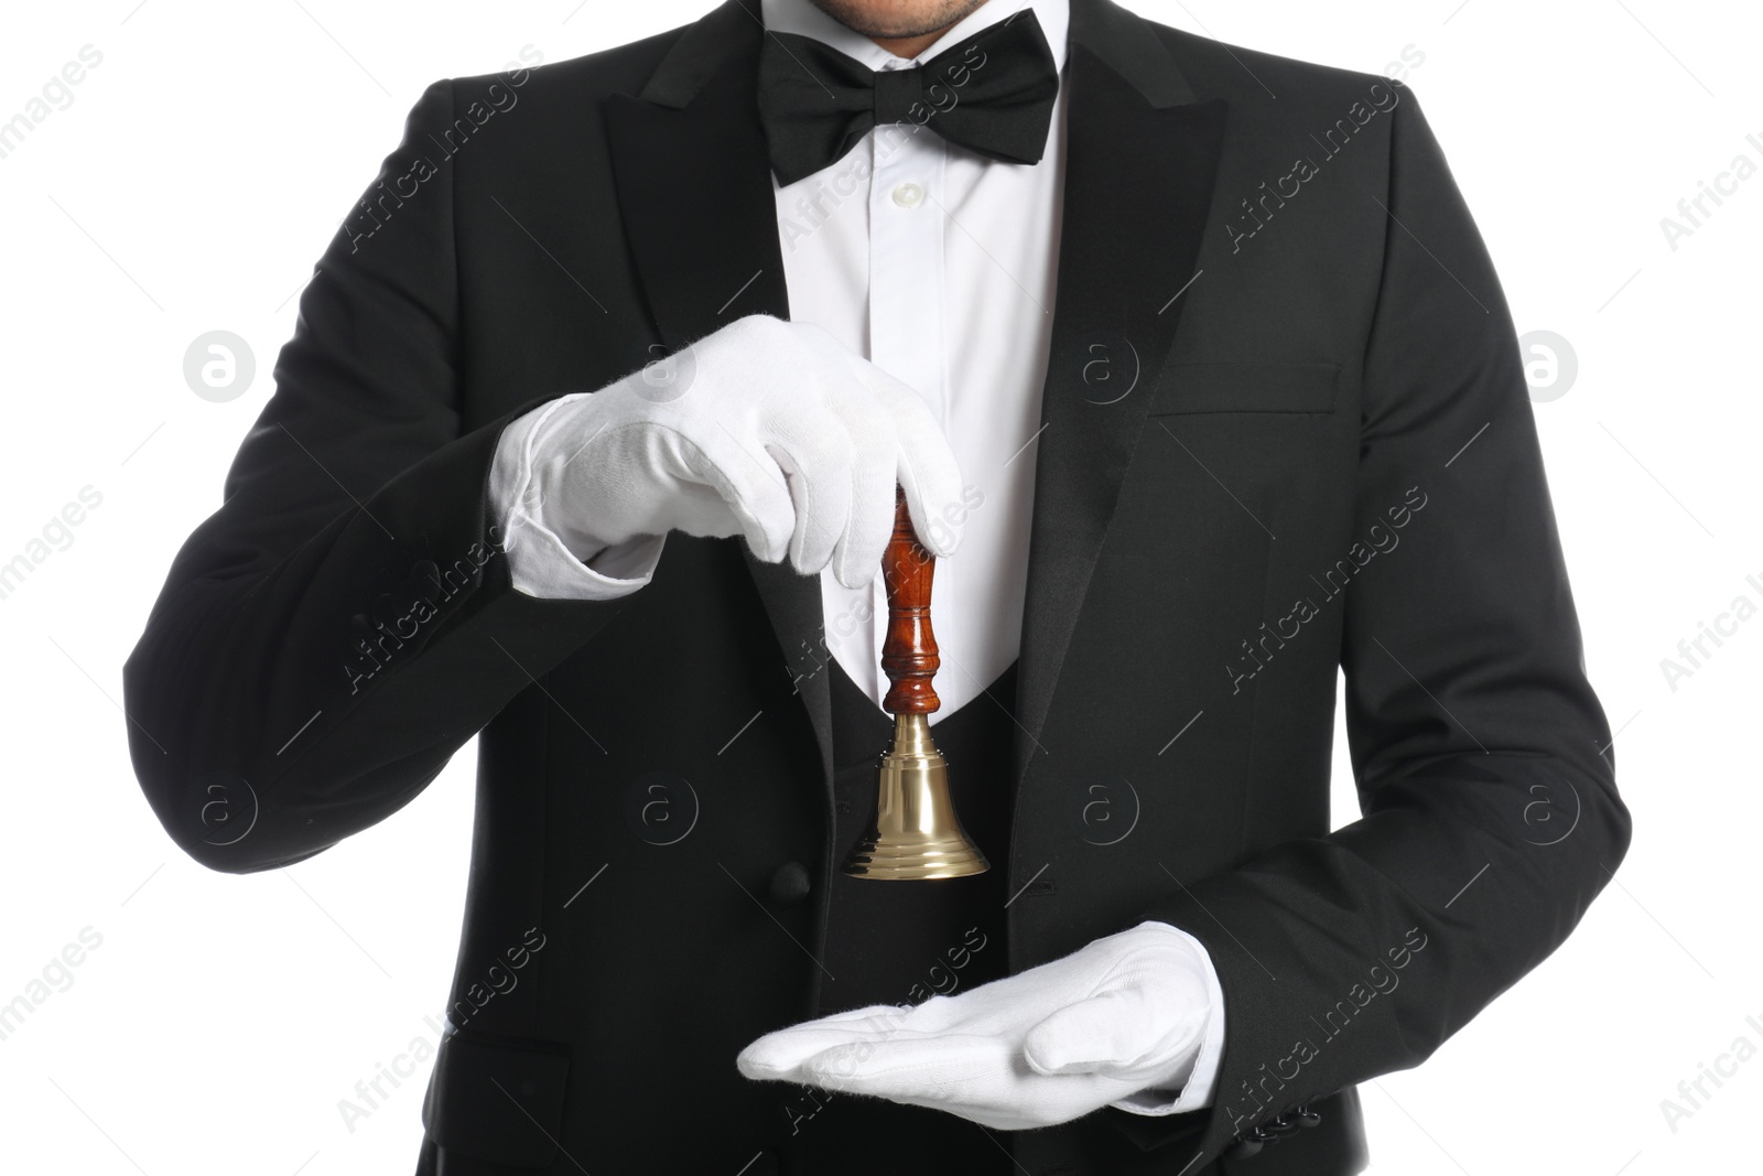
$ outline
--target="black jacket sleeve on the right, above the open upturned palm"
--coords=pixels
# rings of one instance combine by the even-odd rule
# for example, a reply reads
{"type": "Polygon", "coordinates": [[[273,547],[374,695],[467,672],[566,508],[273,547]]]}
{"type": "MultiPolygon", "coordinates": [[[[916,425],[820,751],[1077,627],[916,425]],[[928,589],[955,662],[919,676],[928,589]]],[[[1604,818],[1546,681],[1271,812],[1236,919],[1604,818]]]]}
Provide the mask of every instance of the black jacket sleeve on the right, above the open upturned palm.
{"type": "MultiPolygon", "coordinates": [[[[1426,1060],[1573,931],[1629,845],[1499,279],[1412,93],[1393,109],[1345,596],[1363,818],[1195,882],[1225,1056],[1204,1157],[1426,1060]],[[1395,513],[1393,513],[1395,511],[1395,513]]],[[[1192,1135],[1188,1135],[1192,1139],[1192,1135]]]]}

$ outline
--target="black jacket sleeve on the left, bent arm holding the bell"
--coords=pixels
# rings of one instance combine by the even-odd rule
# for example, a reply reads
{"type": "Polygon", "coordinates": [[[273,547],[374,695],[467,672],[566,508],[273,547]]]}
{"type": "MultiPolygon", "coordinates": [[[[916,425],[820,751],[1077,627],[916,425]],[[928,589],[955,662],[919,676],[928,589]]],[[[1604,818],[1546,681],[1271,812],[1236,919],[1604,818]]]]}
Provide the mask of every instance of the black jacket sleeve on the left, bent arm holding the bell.
{"type": "Polygon", "coordinates": [[[617,610],[510,585],[487,480],[532,404],[462,432],[453,118],[435,83],[316,266],[224,504],[123,670],[146,799],[213,869],[397,811],[617,610]]]}

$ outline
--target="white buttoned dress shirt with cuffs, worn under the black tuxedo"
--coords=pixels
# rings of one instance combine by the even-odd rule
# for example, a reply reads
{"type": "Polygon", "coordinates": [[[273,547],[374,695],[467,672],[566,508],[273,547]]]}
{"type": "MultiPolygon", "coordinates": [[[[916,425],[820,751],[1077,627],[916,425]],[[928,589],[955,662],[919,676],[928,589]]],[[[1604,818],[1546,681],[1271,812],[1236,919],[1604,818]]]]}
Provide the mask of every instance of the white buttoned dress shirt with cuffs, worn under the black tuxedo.
{"type": "MultiPolygon", "coordinates": [[[[813,37],[873,71],[931,62],[966,37],[1033,9],[1063,74],[1068,0],[989,0],[917,58],[901,58],[837,23],[809,0],[762,0],[767,30],[813,37]]],[[[931,615],[941,652],[936,693],[947,718],[1017,659],[1028,589],[1040,393],[1053,335],[1065,178],[1060,85],[1038,164],[989,160],[929,127],[878,127],[829,167],[776,189],[790,317],[815,323],[853,353],[915,388],[943,425],[966,494],[954,518],[954,555],[936,562],[931,615]]],[[[934,125],[934,118],[931,120],[934,125]]],[[[536,420],[543,409],[529,418],[536,420]]],[[[518,460],[532,421],[504,435],[490,478],[497,513],[520,502],[518,460]]],[[[532,510],[532,504],[529,504],[532,510]]],[[[539,594],[608,599],[638,591],[661,543],[633,540],[584,564],[547,541],[541,504],[522,525],[536,541],[510,548],[517,585],[539,594]]],[[[887,693],[882,638],[887,596],[880,566],[862,589],[820,575],[827,644],[880,707],[887,693]]],[[[1014,698],[996,703],[1014,709],[1014,698]]],[[[984,703],[993,705],[993,703],[984,703]]],[[[1206,949],[1194,940],[1201,956],[1206,949]]],[[[1114,1105],[1172,1114],[1211,1102],[1224,1051],[1224,996],[1208,963],[1211,1024],[1179,1091],[1141,1091],[1114,1105]]]]}

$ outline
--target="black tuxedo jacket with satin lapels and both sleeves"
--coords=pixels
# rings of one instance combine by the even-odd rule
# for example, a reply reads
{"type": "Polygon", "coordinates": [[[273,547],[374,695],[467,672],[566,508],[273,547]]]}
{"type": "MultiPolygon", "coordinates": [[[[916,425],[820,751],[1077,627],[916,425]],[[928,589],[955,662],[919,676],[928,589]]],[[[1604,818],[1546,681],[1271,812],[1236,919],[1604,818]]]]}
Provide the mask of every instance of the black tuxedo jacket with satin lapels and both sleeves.
{"type": "MultiPolygon", "coordinates": [[[[481,733],[443,1174],[756,1174],[804,1123],[733,1058],[820,980],[816,578],[675,534],[626,599],[534,599],[485,497],[513,416],[790,314],[760,37],[730,0],[428,88],[127,666],[146,797],[220,871],[481,733]]],[[[973,703],[1019,732],[1008,963],[1167,920],[1229,1044],[1209,1111],[1000,1141],[1035,1176],[1358,1171],[1354,1083],[1541,963],[1629,841],[1511,321],[1412,93],[1109,0],[1065,85],[1019,691],[973,703]],[[1329,832],[1336,666],[1363,820],[1329,832]]]]}

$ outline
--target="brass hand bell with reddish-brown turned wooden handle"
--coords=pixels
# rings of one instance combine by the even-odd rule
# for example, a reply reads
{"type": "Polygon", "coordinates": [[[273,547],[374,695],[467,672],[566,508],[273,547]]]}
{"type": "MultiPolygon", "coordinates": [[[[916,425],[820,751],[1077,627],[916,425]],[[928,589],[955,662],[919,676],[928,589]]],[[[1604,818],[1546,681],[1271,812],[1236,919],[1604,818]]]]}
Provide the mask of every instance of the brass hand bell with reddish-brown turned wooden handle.
{"type": "Polygon", "coordinates": [[[878,765],[874,820],[844,860],[844,873],[885,880],[982,875],[991,862],[961,829],[948,795],[948,762],[931,741],[927,718],[943,705],[931,686],[940,665],[931,631],[936,557],[913,534],[899,490],[882,571],[887,582],[882,668],[890,682],[882,709],[894,716],[894,742],[878,765]]]}

